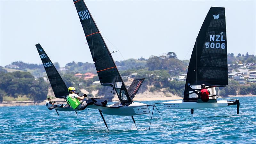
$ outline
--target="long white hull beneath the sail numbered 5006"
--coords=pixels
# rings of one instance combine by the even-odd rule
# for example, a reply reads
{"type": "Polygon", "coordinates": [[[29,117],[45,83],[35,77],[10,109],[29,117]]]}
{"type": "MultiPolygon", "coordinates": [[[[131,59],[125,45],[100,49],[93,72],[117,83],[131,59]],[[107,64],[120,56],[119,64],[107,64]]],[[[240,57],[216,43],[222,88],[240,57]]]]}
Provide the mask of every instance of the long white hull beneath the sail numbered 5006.
{"type": "Polygon", "coordinates": [[[227,106],[228,106],[227,100],[219,100],[213,103],[184,102],[182,100],[163,102],[164,108],[175,108],[175,109],[217,108],[217,107],[227,107],[227,106]]]}

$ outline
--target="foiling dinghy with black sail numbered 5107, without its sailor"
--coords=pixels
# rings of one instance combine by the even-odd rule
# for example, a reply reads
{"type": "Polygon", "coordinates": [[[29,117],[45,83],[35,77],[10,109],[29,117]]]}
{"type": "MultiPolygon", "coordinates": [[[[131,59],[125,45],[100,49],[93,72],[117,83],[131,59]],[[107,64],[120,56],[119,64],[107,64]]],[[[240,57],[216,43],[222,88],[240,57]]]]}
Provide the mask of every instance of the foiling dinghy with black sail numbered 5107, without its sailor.
{"type": "MultiPolygon", "coordinates": [[[[78,17],[82,24],[85,38],[88,42],[92,59],[95,64],[100,83],[103,86],[109,86],[116,92],[119,102],[108,106],[89,105],[87,108],[98,109],[100,115],[108,129],[107,123],[102,115],[116,115],[116,116],[132,116],[132,120],[137,128],[133,116],[150,113],[147,104],[133,102],[132,99],[140,89],[144,79],[137,79],[132,82],[127,89],[124,81],[116,67],[112,58],[112,53],[109,52],[108,47],[100,34],[95,21],[92,18],[87,6],[83,0],[73,0],[78,17]]],[[[154,106],[153,106],[154,110],[154,106]]],[[[138,128],[137,128],[138,130],[138,128]]]]}

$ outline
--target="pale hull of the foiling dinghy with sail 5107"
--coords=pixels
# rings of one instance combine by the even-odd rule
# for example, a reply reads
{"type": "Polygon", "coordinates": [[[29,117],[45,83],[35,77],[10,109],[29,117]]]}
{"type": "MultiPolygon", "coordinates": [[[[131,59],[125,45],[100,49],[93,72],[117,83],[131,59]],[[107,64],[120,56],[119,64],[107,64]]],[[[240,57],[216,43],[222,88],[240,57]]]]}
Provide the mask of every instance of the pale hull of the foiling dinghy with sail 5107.
{"type": "Polygon", "coordinates": [[[105,115],[115,116],[135,116],[150,113],[148,105],[140,102],[133,102],[130,105],[120,106],[118,108],[101,109],[101,111],[105,115]]]}

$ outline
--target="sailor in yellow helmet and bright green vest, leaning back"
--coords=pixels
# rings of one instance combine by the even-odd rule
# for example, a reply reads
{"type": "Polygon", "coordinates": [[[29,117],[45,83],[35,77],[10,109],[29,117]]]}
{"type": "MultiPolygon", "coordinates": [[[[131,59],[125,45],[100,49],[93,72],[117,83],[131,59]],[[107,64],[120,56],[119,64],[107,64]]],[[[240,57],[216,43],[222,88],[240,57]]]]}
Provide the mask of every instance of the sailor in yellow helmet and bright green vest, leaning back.
{"type": "Polygon", "coordinates": [[[84,110],[88,105],[95,104],[97,102],[94,99],[84,100],[84,97],[87,96],[86,94],[84,94],[84,96],[82,96],[82,97],[78,96],[75,93],[76,92],[75,87],[72,87],[72,86],[69,87],[68,92],[69,92],[69,95],[67,97],[67,102],[74,109],[84,110]],[[84,100],[84,101],[80,103],[79,100],[84,100]]]}

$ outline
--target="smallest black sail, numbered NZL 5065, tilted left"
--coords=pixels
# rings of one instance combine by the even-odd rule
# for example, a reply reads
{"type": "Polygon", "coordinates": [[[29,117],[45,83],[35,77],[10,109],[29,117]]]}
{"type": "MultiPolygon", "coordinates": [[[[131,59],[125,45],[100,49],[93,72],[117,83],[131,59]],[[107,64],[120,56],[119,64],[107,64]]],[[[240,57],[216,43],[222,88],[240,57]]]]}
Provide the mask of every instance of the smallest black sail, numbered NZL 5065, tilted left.
{"type": "MultiPolygon", "coordinates": [[[[62,80],[60,74],[57,69],[54,67],[52,61],[44,52],[44,49],[40,44],[36,44],[36,49],[40,55],[40,58],[43,62],[44,69],[48,76],[48,79],[51,83],[52,90],[56,98],[65,98],[68,95],[68,88],[64,81],[62,80]]],[[[45,90],[48,91],[48,90],[45,90]]]]}

